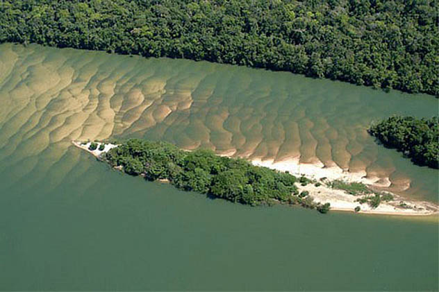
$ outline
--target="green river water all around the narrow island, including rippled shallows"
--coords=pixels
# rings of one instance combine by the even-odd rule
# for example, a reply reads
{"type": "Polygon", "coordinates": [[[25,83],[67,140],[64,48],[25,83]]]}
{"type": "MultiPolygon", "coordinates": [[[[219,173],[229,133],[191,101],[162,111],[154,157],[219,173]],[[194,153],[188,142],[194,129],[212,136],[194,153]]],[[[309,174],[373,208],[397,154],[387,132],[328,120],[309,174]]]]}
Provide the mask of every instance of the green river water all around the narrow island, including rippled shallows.
{"type": "Polygon", "coordinates": [[[207,62],[0,46],[0,290],[438,290],[437,218],[251,208],[108,169],[72,139],[336,164],[438,202],[437,171],[377,146],[431,96],[207,62]]]}

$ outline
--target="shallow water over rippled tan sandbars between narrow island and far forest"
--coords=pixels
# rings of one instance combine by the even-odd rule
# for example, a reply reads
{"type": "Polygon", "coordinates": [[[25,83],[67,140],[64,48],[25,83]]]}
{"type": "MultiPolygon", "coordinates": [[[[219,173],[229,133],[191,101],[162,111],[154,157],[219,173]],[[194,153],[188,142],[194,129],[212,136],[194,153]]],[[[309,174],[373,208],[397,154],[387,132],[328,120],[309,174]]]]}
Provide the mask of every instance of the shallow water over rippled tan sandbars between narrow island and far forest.
{"type": "MultiPolygon", "coordinates": [[[[437,172],[377,146],[366,129],[394,113],[431,116],[437,106],[429,96],[282,72],[2,44],[0,173],[20,165],[11,184],[43,179],[59,160],[81,160],[73,139],[146,137],[360,173],[435,200],[437,172]]],[[[58,168],[51,183],[69,171],[58,168]]]]}

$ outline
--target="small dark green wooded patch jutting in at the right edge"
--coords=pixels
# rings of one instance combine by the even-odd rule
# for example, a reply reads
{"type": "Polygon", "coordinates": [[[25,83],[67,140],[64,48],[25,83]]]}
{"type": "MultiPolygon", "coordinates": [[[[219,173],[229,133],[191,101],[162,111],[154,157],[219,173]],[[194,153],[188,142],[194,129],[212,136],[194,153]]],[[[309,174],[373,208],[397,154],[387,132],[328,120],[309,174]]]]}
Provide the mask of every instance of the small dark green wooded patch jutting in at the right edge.
{"type": "Polygon", "coordinates": [[[390,117],[372,125],[369,132],[384,145],[411,157],[416,164],[439,168],[438,117],[390,117]]]}

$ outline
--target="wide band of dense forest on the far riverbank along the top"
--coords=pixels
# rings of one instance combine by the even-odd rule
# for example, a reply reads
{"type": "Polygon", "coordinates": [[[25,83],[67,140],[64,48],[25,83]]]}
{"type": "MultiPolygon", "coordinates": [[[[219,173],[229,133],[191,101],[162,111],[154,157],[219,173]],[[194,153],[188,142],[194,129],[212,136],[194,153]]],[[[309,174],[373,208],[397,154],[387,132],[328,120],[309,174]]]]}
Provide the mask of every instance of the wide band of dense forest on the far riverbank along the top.
{"type": "Polygon", "coordinates": [[[0,42],[208,60],[439,96],[438,19],[433,0],[3,0],[0,42]]]}

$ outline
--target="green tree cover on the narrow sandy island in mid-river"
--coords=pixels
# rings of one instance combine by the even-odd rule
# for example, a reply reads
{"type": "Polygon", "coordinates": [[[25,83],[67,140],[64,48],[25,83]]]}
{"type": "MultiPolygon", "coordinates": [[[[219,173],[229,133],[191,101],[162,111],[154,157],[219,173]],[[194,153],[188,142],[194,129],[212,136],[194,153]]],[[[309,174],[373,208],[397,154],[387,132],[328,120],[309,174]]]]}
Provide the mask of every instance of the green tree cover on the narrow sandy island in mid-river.
{"type": "Polygon", "coordinates": [[[295,176],[254,166],[242,159],[220,157],[210,150],[183,151],[165,142],[129,139],[103,157],[124,172],[147,180],[169,180],[185,191],[197,191],[249,205],[285,203],[326,213],[329,204],[314,203],[298,194],[295,176]]]}

